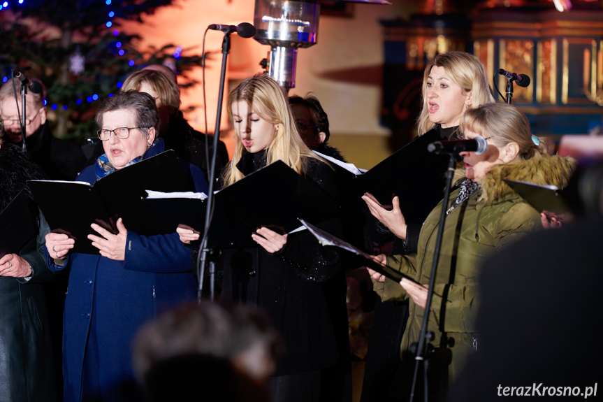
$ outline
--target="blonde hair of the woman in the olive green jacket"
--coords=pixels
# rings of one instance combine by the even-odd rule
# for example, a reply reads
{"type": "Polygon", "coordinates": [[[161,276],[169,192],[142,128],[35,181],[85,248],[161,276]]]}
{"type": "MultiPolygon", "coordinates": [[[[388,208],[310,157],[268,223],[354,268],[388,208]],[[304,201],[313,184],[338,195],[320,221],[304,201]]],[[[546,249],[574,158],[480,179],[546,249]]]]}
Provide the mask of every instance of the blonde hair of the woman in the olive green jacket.
{"type": "Polygon", "coordinates": [[[519,156],[530,159],[536,155],[551,155],[553,141],[538,138],[539,145],[532,141],[528,117],[507,103],[487,103],[479,108],[467,110],[460,120],[460,130],[472,131],[484,138],[490,138],[499,148],[509,143],[519,145],[519,156]]]}

